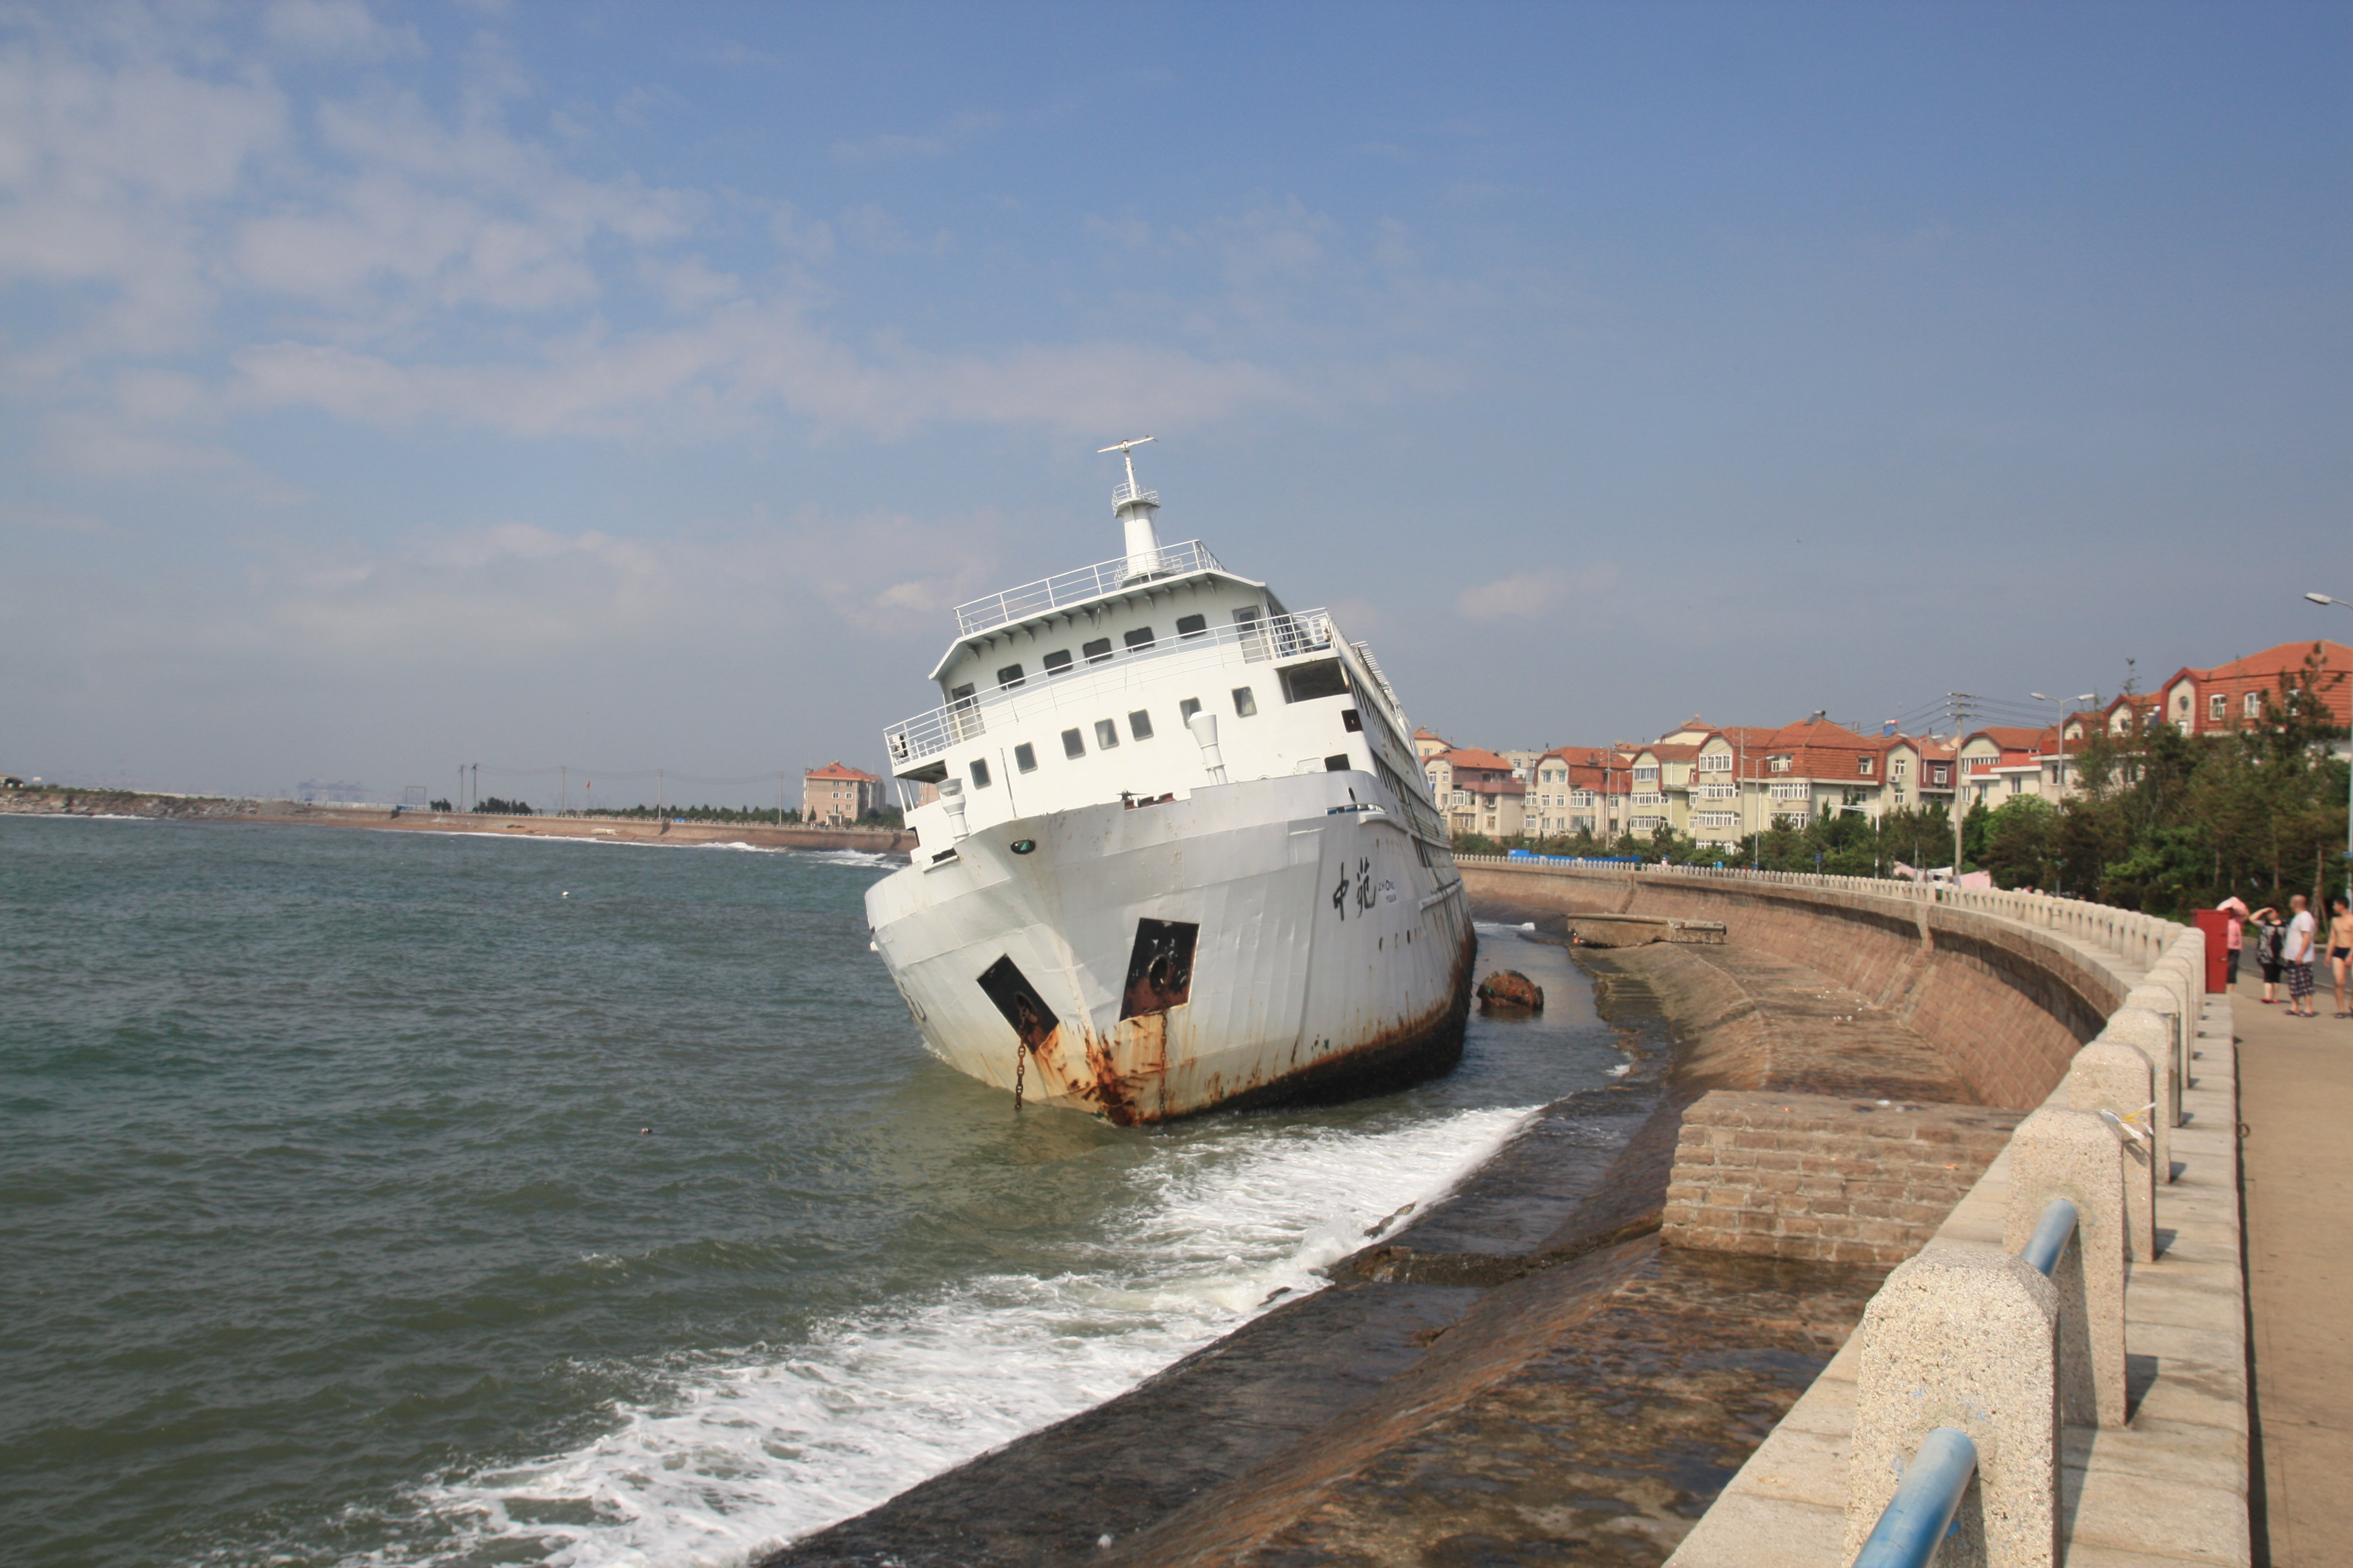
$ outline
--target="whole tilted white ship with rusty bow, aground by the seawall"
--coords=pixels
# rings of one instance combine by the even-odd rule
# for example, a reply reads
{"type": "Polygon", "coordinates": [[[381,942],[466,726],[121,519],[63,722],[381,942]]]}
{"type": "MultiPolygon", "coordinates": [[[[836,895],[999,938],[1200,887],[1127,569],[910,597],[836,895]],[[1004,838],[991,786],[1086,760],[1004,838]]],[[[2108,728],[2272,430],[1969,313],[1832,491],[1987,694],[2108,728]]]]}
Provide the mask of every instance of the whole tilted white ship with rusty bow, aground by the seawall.
{"type": "Polygon", "coordinates": [[[875,950],[951,1065],[1122,1126],[1447,1072],[1475,938],[1412,724],[1327,611],[1160,543],[1139,444],[1125,555],[958,607],[885,731],[875,950]]]}

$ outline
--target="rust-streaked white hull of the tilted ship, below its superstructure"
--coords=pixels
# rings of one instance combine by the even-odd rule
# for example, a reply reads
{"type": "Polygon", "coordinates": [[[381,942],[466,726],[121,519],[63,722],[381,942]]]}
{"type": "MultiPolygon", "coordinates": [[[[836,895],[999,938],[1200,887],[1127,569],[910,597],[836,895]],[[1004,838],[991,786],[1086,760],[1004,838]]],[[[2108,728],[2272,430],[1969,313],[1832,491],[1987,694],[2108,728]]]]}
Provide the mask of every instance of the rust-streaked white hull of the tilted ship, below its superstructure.
{"type": "Polygon", "coordinates": [[[1475,943],[1386,795],[1318,771],[1012,818],[866,912],[929,1048],[1028,1100],[1132,1126],[1377,1093],[1459,1060],[1475,943]]]}

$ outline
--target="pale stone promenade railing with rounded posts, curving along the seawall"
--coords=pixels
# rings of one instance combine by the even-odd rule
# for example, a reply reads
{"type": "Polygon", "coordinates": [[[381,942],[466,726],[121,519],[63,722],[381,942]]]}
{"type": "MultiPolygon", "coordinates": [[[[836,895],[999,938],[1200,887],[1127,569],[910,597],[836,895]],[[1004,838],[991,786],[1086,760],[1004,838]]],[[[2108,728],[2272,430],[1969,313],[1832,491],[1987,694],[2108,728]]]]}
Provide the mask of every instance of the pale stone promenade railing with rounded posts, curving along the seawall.
{"type": "Polygon", "coordinates": [[[1906,1467],[1962,1448],[1974,1469],[1953,1535],[1920,1561],[2252,1559],[2238,1072],[2231,1001],[2205,994],[2202,933],[2045,893],[1459,860],[1659,896],[1817,893],[1824,914],[1857,900],[1960,910],[2042,933],[2014,952],[2092,966],[2122,1001],[1668,1568],[1854,1563],[1906,1467]],[[2045,1276],[2019,1251],[2054,1199],[2073,1204],[2075,1239],[2045,1276]]]}

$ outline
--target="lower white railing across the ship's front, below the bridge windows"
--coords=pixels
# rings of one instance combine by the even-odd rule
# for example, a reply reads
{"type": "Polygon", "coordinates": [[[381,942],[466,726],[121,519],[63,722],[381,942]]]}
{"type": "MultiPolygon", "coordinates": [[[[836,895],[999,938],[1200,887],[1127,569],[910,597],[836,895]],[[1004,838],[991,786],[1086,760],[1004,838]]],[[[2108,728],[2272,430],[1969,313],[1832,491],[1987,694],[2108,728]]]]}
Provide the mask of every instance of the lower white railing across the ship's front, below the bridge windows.
{"type": "Polygon", "coordinates": [[[892,771],[948,750],[958,741],[974,741],[991,729],[1059,712],[1085,698],[1089,719],[1101,717],[1101,693],[1146,677],[1172,675],[1186,665],[1231,665],[1235,651],[1242,663],[1271,663],[1322,654],[1334,646],[1332,616],[1320,609],[1304,609],[1289,616],[1238,621],[1212,625],[1188,635],[1162,635],[1144,646],[1113,649],[1066,665],[1059,675],[1024,675],[1019,682],[991,686],[958,698],[929,712],[918,712],[882,731],[882,750],[892,771]],[[1167,661],[1184,661],[1172,665],[1167,661]]]}

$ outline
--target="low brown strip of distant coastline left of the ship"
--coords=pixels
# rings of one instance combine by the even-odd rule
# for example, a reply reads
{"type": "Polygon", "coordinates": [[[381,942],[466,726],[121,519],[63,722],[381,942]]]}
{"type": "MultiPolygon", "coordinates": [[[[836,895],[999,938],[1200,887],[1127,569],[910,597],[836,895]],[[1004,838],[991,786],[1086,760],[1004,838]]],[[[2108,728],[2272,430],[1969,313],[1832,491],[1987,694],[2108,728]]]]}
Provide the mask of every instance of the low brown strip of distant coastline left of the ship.
{"type": "Polygon", "coordinates": [[[296,799],[228,799],[146,790],[5,790],[0,816],[144,816],[160,820],[289,823],[381,832],[489,832],[525,839],[609,839],[631,844],[751,844],[753,849],[864,849],[904,853],[904,827],[807,827],[798,823],[680,823],[626,816],[506,816],[393,806],[313,806],[296,799]]]}

